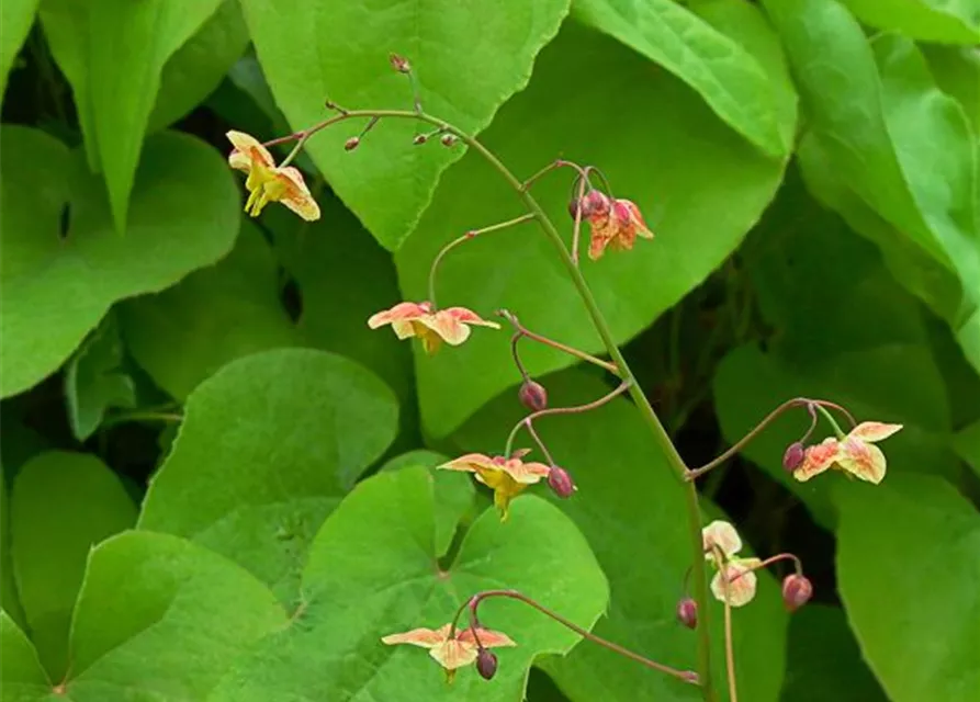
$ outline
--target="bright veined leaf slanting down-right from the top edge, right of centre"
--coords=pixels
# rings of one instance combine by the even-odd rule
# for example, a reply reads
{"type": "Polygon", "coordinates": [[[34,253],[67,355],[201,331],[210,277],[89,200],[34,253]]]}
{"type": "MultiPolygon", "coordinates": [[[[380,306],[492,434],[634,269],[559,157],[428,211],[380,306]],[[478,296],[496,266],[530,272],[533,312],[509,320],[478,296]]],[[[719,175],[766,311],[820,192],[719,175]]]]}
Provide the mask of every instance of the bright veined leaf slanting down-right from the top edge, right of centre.
{"type": "MultiPolygon", "coordinates": [[[[709,11],[721,12],[741,5],[731,10],[742,15],[739,23],[771,35],[755,8],[725,0],[711,4],[709,11]]],[[[792,149],[792,87],[773,82],[752,53],[710,21],[674,0],[576,0],[573,15],[677,76],[764,154],[781,158],[792,149]]]]}

